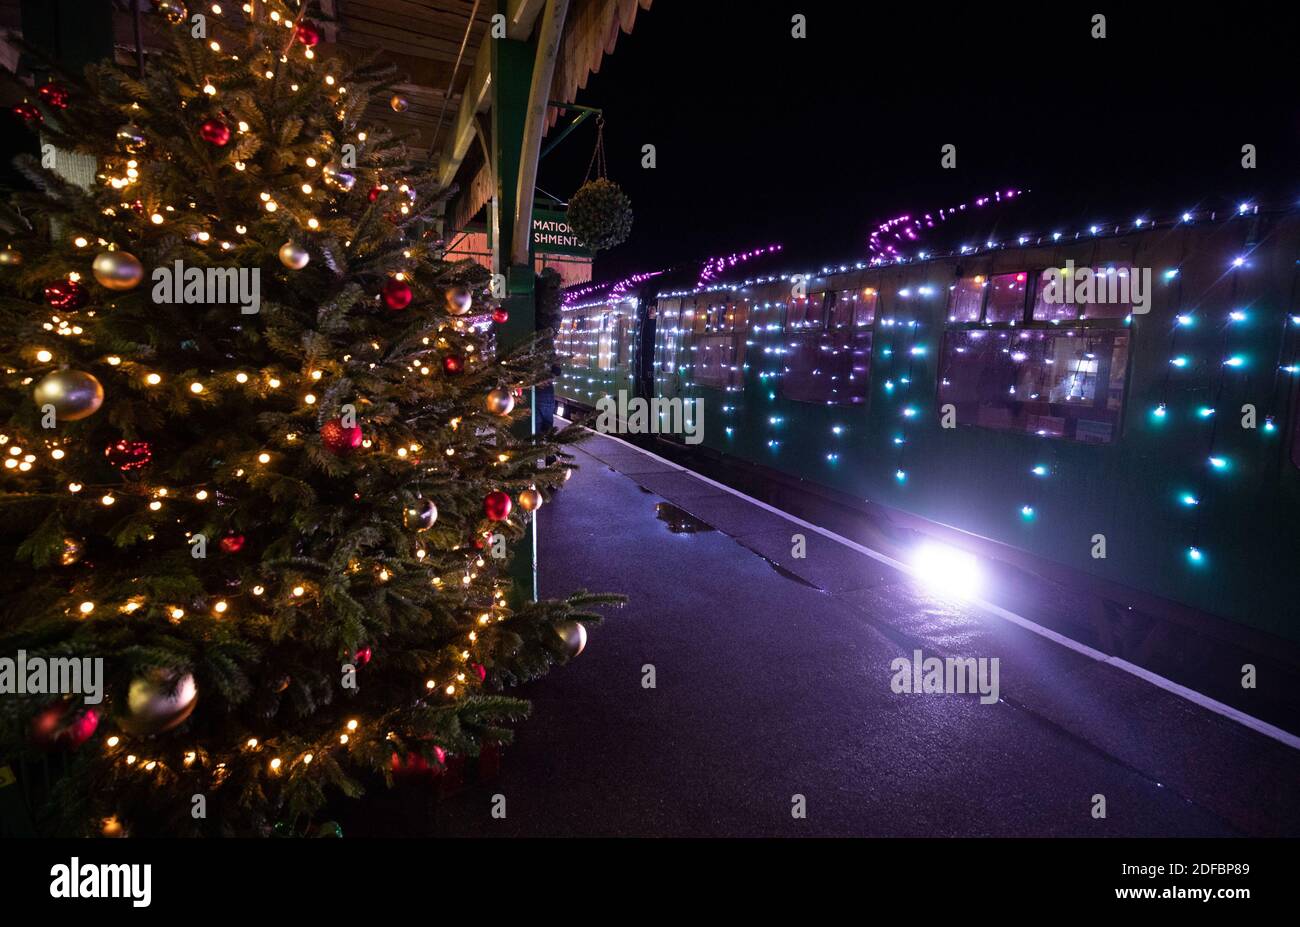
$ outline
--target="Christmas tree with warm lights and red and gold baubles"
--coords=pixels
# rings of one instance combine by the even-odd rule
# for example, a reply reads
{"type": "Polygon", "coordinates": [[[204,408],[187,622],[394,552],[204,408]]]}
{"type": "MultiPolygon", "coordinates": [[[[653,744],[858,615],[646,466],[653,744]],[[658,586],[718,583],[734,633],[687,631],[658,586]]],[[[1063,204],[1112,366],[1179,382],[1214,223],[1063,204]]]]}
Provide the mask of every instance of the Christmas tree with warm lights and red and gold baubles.
{"type": "Polygon", "coordinates": [[[510,582],[568,473],[526,429],[551,359],[439,259],[447,191],[364,121],[391,69],[296,5],[155,12],[143,73],[14,108],[42,153],[0,212],[0,755],[66,759],[51,832],[304,833],[507,742],[499,690],[614,599],[510,582]],[[101,697],[31,675],[95,660],[101,697]]]}

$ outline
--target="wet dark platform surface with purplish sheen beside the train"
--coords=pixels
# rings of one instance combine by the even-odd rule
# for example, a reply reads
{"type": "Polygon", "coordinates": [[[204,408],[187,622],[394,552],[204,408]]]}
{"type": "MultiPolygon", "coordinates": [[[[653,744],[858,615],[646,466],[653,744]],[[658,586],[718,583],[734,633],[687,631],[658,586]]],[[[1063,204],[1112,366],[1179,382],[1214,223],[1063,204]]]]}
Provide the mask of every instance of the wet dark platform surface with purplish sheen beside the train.
{"type": "Polygon", "coordinates": [[[1300,751],[675,464],[580,447],[541,512],[542,595],[629,605],[520,692],[499,779],[446,800],[438,833],[1300,835],[1300,751]],[[663,503],[712,530],[673,530],[663,503]],[[998,658],[1000,701],[893,693],[918,649],[998,658]]]}

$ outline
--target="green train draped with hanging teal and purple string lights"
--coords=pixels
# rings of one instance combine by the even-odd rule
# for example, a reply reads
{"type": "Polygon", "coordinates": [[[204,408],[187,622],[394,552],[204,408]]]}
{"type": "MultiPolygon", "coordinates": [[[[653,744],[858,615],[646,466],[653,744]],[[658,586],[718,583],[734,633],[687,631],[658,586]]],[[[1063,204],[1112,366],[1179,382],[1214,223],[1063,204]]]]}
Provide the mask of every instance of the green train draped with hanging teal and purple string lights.
{"type": "Polygon", "coordinates": [[[558,394],[702,399],[718,454],[1295,644],[1297,259],[1300,215],[1252,207],[664,276],[567,307],[558,394]]]}

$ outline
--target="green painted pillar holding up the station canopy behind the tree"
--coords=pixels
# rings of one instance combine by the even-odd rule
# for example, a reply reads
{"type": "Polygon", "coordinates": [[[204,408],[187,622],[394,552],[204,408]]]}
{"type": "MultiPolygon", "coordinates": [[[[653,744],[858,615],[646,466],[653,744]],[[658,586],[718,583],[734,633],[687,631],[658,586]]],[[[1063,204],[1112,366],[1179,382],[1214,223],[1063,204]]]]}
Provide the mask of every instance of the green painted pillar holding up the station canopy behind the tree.
{"type": "MultiPolygon", "coordinates": [[[[498,12],[507,13],[504,0],[498,12]]],[[[503,306],[510,319],[497,328],[499,351],[510,351],[530,339],[537,329],[537,303],[533,291],[533,268],[512,267],[510,255],[515,234],[515,198],[519,186],[520,156],[524,147],[524,121],[528,114],[528,95],[537,59],[536,42],[515,39],[489,39],[491,42],[491,134],[493,159],[497,163],[497,202],[499,203],[499,235],[497,254],[499,272],[506,276],[503,306]]],[[[529,390],[532,393],[532,390],[529,390]]],[[[536,397],[528,395],[529,408],[536,407],[536,397]]],[[[521,433],[537,433],[536,412],[525,423],[521,433]]],[[[523,541],[515,547],[510,575],[514,580],[514,605],[537,601],[537,517],[528,523],[523,541]]]]}

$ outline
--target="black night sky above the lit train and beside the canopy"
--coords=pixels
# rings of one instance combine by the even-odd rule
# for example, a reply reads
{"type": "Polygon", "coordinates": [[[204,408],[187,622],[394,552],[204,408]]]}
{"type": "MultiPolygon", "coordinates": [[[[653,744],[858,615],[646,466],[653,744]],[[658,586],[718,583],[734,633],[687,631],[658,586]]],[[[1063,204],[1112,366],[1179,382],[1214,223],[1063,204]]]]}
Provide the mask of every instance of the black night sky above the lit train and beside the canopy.
{"type": "MultiPolygon", "coordinates": [[[[1296,203],[1300,13],[1222,9],[655,0],[577,98],[604,109],[636,213],[595,280],[772,242],[796,269],[858,260],[892,216],[1013,187],[1030,192],[982,216],[991,235],[1296,203]],[[1106,39],[1089,35],[1096,12],[1106,39]],[[790,38],[794,13],[807,39],[790,38]]],[[[572,195],[593,143],[589,121],[540,186],[572,195]]]]}

